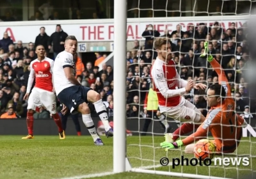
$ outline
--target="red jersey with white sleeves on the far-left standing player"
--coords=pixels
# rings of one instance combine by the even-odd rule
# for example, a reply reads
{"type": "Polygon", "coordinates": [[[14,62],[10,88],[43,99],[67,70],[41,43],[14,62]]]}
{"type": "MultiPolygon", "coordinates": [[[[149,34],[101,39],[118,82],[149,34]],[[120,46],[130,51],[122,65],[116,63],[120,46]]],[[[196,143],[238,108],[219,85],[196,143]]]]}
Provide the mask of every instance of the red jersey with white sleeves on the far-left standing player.
{"type": "Polygon", "coordinates": [[[28,80],[27,93],[31,91],[33,81],[36,79],[35,87],[46,91],[53,90],[52,84],[52,68],[54,61],[50,58],[45,58],[42,61],[35,59],[30,63],[30,74],[28,80]]]}

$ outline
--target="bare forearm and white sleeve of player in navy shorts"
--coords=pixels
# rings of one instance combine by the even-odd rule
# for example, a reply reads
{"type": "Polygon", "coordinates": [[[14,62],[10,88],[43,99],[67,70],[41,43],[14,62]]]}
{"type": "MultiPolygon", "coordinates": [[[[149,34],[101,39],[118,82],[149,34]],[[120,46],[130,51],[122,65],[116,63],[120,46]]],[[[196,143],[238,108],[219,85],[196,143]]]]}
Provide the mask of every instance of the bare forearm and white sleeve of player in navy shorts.
{"type": "Polygon", "coordinates": [[[72,61],[73,61],[72,56],[65,57],[64,63],[62,65],[63,70],[68,81],[80,86],[81,84],[80,82],[77,81],[73,72],[74,68],[73,68],[72,61]]]}

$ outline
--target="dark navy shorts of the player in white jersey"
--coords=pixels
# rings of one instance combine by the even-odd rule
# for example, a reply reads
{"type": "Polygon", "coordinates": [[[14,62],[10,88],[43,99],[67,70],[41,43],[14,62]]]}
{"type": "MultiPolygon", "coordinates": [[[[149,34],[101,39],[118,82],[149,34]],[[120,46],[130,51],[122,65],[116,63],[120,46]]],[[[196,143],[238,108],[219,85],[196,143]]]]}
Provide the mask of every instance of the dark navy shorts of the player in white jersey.
{"type": "Polygon", "coordinates": [[[87,93],[92,88],[86,86],[70,86],[58,94],[60,102],[68,107],[71,114],[76,114],[77,107],[87,101],[87,93]]]}

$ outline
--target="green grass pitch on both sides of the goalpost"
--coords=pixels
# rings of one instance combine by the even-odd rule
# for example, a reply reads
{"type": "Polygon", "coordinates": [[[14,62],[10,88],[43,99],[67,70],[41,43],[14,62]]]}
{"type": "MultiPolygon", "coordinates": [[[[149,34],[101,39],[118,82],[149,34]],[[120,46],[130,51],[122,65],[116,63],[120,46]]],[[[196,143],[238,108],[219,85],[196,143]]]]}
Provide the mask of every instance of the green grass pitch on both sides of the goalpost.
{"type": "MultiPolygon", "coordinates": [[[[110,172],[113,169],[113,139],[102,137],[104,146],[94,146],[92,137],[35,136],[35,139],[22,140],[22,136],[0,136],[0,179],[40,179],[65,178],[110,172]]],[[[159,148],[163,136],[127,137],[127,157],[132,167],[159,166],[161,157],[169,159],[184,155],[182,150],[164,152],[159,148]],[[154,143],[153,143],[154,142],[154,143]],[[140,145],[138,145],[140,144],[140,145]]],[[[249,178],[256,171],[256,139],[244,137],[237,154],[248,155],[250,166],[206,167],[172,166],[157,167],[158,171],[192,173],[197,175],[220,176],[226,178],[249,178]]],[[[193,155],[184,155],[193,157],[193,155]]],[[[234,156],[233,156],[234,157],[234,156]]],[[[172,176],[143,173],[120,173],[97,178],[175,178],[172,176]]],[[[256,178],[254,175],[253,178],[256,178]]]]}

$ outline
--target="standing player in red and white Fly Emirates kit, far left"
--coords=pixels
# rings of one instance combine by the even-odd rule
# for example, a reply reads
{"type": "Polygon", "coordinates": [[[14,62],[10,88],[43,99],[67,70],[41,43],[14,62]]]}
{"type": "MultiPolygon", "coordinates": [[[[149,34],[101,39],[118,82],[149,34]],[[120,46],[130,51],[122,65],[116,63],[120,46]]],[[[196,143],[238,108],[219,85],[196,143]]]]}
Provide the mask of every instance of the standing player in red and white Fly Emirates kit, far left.
{"type": "Polygon", "coordinates": [[[30,74],[28,79],[27,93],[24,100],[28,99],[28,113],[27,113],[27,127],[28,136],[22,139],[33,139],[33,113],[37,107],[44,106],[58,126],[60,139],[65,139],[65,132],[61,125],[60,116],[56,111],[56,96],[52,84],[52,68],[54,61],[45,57],[45,49],[43,45],[37,45],[36,54],[37,59],[30,63],[30,74]],[[31,91],[33,82],[35,86],[31,91]],[[29,93],[31,94],[29,96],[29,93]]]}

